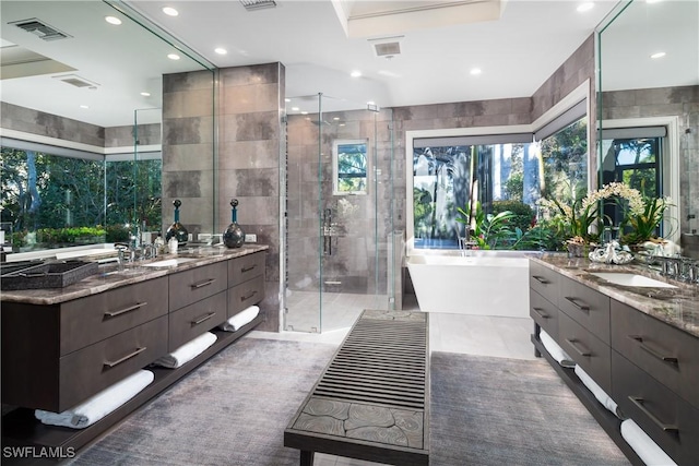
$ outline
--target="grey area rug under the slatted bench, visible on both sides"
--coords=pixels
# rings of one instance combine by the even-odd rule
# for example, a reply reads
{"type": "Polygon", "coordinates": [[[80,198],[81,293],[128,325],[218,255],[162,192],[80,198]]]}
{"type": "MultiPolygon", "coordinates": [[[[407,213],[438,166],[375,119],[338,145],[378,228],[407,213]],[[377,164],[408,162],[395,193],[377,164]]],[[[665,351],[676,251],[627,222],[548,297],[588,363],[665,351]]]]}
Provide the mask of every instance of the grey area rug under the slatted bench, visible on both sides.
{"type": "MultiPolygon", "coordinates": [[[[244,337],[66,465],[298,465],[284,429],[335,349],[244,337]]],[[[434,353],[430,398],[434,466],[628,464],[542,360],[434,353]]]]}

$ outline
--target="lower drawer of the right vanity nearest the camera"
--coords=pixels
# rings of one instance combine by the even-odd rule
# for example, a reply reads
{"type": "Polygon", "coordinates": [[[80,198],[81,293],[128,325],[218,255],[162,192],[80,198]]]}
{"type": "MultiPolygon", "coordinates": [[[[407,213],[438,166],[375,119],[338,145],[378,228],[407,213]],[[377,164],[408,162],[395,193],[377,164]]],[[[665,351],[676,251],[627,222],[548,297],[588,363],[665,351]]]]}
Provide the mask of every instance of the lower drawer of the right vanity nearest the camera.
{"type": "Polygon", "coordinates": [[[679,465],[699,458],[699,409],[684,402],[616,351],[612,397],[679,465]]]}

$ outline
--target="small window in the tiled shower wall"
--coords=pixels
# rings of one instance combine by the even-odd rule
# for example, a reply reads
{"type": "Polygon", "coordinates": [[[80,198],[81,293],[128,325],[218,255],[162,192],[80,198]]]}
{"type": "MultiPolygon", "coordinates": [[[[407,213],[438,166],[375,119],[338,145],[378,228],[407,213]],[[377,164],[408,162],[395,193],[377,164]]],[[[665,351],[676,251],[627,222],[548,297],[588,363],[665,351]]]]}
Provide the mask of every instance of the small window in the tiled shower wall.
{"type": "Polygon", "coordinates": [[[336,140],[332,157],[333,194],[366,194],[367,140],[336,140]]]}

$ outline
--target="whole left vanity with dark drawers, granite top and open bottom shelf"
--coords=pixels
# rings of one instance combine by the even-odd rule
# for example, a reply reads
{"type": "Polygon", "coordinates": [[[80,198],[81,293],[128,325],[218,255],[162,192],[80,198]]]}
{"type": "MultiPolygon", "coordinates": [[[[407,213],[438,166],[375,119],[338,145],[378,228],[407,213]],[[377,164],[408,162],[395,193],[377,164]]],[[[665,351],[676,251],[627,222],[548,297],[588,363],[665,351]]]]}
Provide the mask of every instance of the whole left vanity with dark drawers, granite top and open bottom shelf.
{"type": "Polygon", "coordinates": [[[3,445],[80,449],[264,319],[217,328],[264,298],[266,246],[201,248],[152,261],[100,266],[59,289],[2,292],[3,445]],[[178,369],[149,367],[205,333],[217,335],[178,369]],[[34,409],[61,413],[146,368],[155,380],[82,430],[44,426],[34,409]]]}

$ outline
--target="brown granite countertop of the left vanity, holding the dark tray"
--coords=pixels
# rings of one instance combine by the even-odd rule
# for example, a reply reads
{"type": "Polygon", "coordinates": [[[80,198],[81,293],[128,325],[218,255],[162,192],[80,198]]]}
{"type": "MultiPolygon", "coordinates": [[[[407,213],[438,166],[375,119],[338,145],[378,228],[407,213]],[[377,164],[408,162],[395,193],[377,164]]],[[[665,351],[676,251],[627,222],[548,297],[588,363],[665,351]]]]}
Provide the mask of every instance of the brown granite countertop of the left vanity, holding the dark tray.
{"type": "Polygon", "coordinates": [[[99,265],[99,272],[97,274],[83,278],[82,280],[64,288],[23,289],[12,291],[3,290],[1,300],[2,302],[22,302],[40,306],[58,304],[121,286],[145,282],[202,265],[227,261],[229,259],[252,254],[268,249],[269,246],[265,244],[244,244],[240,248],[234,249],[223,247],[190,248],[177,254],[162,254],[156,259],[127,263],[123,265],[123,271],[121,272],[117,270],[116,263],[108,263],[99,265]],[[191,259],[191,261],[164,267],[144,266],[147,263],[176,258],[188,258],[191,259]]]}

